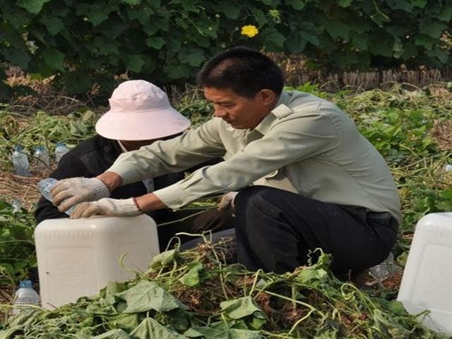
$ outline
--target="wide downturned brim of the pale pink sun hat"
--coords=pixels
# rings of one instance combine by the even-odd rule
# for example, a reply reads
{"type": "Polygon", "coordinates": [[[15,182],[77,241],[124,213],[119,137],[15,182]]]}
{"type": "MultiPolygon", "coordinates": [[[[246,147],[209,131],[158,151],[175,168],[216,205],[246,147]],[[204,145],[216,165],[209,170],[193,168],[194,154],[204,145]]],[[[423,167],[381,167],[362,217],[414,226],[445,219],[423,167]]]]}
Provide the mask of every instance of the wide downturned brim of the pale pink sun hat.
{"type": "Polygon", "coordinates": [[[120,114],[109,110],[96,123],[96,131],[105,138],[141,141],[165,138],[185,131],[191,122],[176,109],[120,114]]]}

